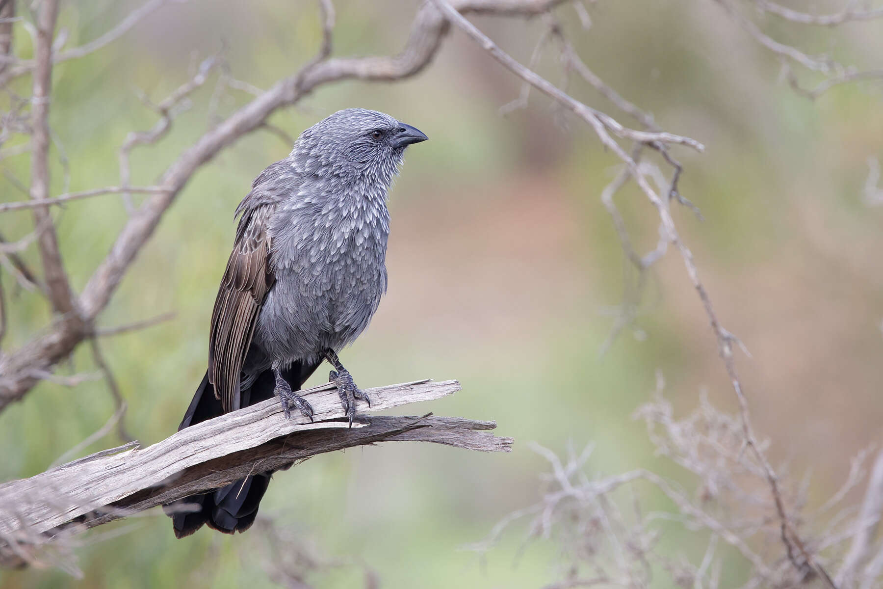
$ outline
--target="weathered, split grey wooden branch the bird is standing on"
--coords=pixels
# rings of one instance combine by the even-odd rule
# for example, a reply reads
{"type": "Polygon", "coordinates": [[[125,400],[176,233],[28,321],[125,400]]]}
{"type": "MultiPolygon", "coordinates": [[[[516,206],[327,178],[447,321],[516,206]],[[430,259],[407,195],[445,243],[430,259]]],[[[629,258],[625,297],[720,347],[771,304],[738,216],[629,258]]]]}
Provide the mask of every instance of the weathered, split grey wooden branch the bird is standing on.
{"type": "MultiPolygon", "coordinates": [[[[457,381],[416,381],[366,389],[375,412],[429,401],[460,389],[457,381]]],[[[511,438],[487,430],[493,421],[462,418],[367,417],[347,427],[333,384],[302,393],[314,423],[286,420],[280,404],[260,404],[210,419],[147,448],[137,442],[104,450],[0,485],[0,564],[40,562],[40,548],[96,525],[222,487],[249,473],[288,468],[324,452],[384,441],[436,442],[486,452],[509,451],[511,438]]],[[[171,533],[171,532],[170,532],[171,533]]]]}

